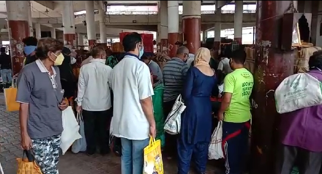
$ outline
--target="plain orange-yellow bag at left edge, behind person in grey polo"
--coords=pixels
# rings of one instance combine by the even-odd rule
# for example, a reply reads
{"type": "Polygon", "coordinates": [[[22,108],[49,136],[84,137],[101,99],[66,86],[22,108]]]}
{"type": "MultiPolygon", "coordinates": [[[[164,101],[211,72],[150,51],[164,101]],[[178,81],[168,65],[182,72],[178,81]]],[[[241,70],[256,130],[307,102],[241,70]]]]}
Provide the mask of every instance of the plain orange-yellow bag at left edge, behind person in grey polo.
{"type": "Polygon", "coordinates": [[[19,111],[20,104],[16,102],[17,88],[9,87],[4,89],[5,106],[7,111],[19,111]]]}

